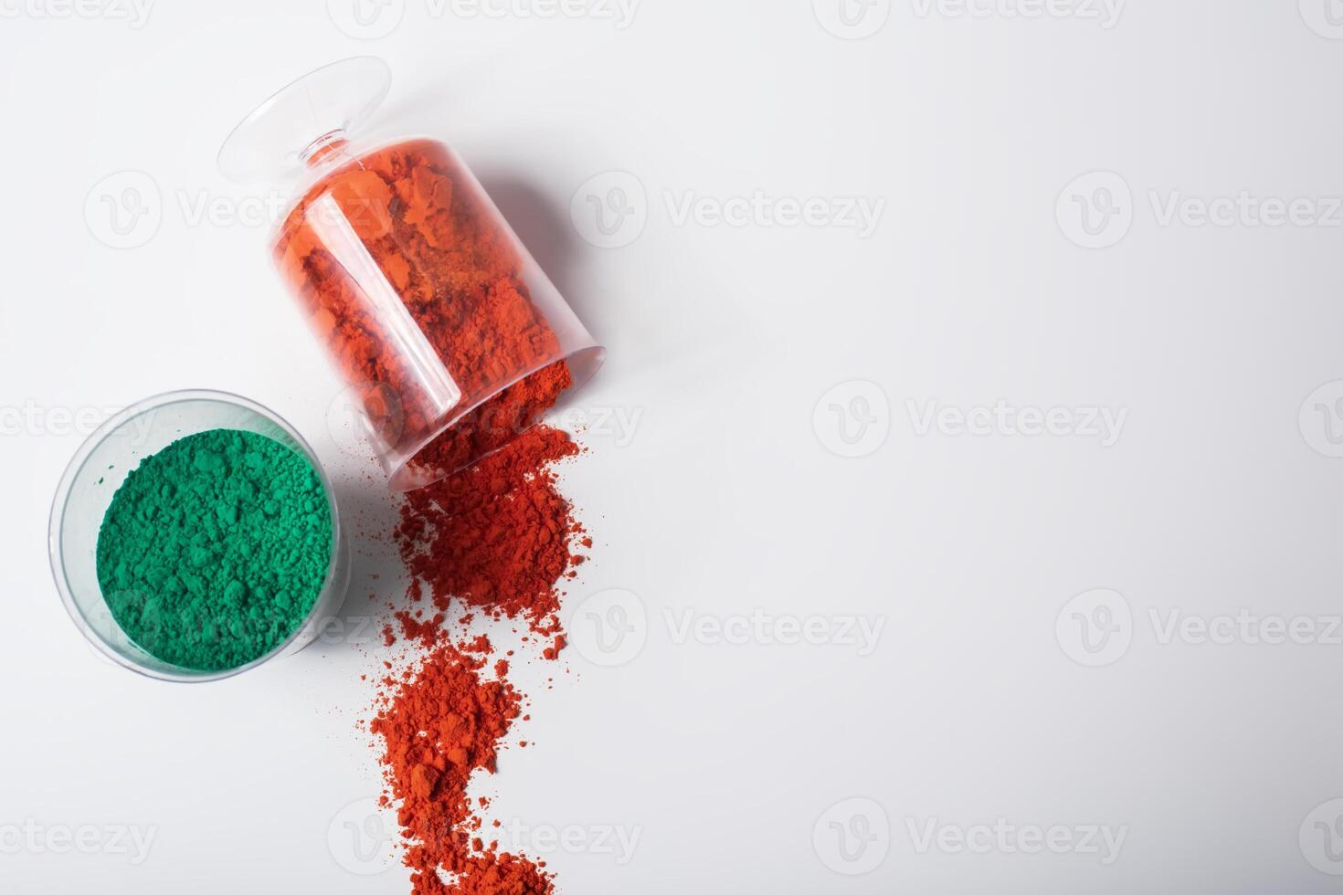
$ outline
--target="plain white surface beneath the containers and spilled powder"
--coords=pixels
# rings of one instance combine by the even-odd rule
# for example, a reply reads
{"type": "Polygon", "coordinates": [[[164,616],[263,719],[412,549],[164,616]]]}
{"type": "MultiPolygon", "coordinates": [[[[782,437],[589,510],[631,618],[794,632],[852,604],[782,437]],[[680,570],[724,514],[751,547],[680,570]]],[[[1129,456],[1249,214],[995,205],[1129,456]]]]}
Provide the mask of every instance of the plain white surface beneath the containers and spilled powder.
{"type": "MultiPolygon", "coordinates": [[[[371,52],[396,76],[377,131],[451,141],[608,346],[577,408],[638,420],[592,425],[564,487],[596,539],[569,605],[629,590],[592,607],[642,608],[643,648],[594,664],[594,619],[619,616],[582,613],[564,662],[520,663],[533,719],[512,739],[536,745],[477,790],[587,843],[545,855],[563,891],[1335,891],[1343,385],[1312,397],[1343,380],[1326,0],[1132,0],[1117,20],[853,1],[851,28],[826,0],[486,7],[504,12],[404,0],[360,31],[320,0],[158,0],[144,20],[0,1],[0,888],[408,891],[396,865],[352,872],[379,865],[345,825],[379,790],[355,727],[376,644],[142,679],[70,623],[46,545],[83,437],[67,415],[179,388],[278,411],[357,527],[385,530],[266,225],[227,213],[257,195],[214,161],[265,95],[371,52]],[[125,182],[103,178],[125,170],[161,221],[114,248],[102,197],[125,182]],[[633,213],[599,238],[590,196],[616,185],[633,213]],[[757,192],[772,216],[712,217],[757,192]],[[1197,201],[1242,192],[1308,203],[1283,225],[1201,223],[1197,201]],[[688,197],[706,211],[682,219],[688,197]],[[790,201],[846,197],[881,204],[874,232],[787,225],[790,201]],[[920,423],[999,400],[1127,416],[1108,447],[920,423]],[[1113,593],[1069,604],[1096,589],[1113,593]],[[1104,621],[1100,600],[1119,629],[1088,652],[1073,613],[1104,621]],[[1301,617],[1315,641],[1163,643],[1176,611],[1301,617]],[[882,628],[862,655],[681,639],[688,612],[882,628]],[[929,821],[999,819],[1124,840],[1112,863],[1011,837],[916,848],[929,821]],[[144,860],[52,853],[52,829],[115,824],[153,833],[144,860]],[[26,825],[36,847],[5,832],[26,825]],[[603,829],[637,832],[633,859],[603,829]]],[[[360,546],[351,617],[400,594],[372,577],[384,553],[360,546]]]]}

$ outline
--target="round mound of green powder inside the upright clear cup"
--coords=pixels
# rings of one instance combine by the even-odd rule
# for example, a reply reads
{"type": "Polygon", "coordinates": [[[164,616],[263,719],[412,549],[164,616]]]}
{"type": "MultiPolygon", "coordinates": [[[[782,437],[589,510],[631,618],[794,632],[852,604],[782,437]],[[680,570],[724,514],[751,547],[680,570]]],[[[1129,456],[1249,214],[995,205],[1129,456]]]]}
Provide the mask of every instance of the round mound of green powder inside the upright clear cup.
{"type": "Polygon", "coordinates": [[[98,531],[98,584],[146,652],[224,671],[304,623],[330,553],[330,507],[308,459],[214,429],[146,458],[117,490],[98,531]]]}

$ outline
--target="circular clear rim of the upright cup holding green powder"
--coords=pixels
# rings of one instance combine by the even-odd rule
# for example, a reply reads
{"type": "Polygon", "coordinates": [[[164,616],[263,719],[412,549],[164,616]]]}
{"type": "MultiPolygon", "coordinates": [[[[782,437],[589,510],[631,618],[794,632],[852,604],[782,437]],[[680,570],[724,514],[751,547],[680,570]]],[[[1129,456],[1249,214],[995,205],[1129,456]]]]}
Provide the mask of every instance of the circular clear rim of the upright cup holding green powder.
{"type": "MultiPolygon", "coordinates": [[[[183,437],[187,437],[187,435],[184,435],[183,437]]],[[[101,655],[106,656],[107,659],[121,666],[122,668],[128,668],[146,678],[153,678],[154,680],[167,680],[172,683],[207,683],[211,680],[223,680],[226,678],[240,675],[244,671],[250,671],[274,659],[275,656],[283,653],[314,623],[314,616],[322,608],[324,602],[326,602],[326,598],[330,596],[332,588],[337,585],[336,576],[338,573],[341,561],[340,556],[342,545],[341,538],[342,533],[340,527],[340,509],[336,499],[336,490],[332,487],[330,478],[326,475],[326,468],[322,466],[321,460],[317,456],[317,452],[313,451],[313,447],[308,443],[308,440],[304,439],[304,436],[299,435],[298,429],[290,425],[287,420],[285,420],[282,416],[279,416],[266,405],[252,401],[251,399],[243,397],[242,394],[235,394],[232,392],[223,392],[215,389],[180,389],[173,392],[163,392],[160,394],[146,397],[141,401],[136,401],[134,404],[130,404],[126,408],[111,415],[106,421],[103,421],[102,425],[94,429],[89,435],[89,437],[83,440],[83,443],[81,443],[79,448],[70,459],[70,463],[66,466],[64,472],[62,472],[60,475],[60,483],[56,486],[56,494],[52,498],[51,513],[47,519],[47,554],[51,562],[51,576],[55,580],[56,590],[60,593],[60,601],[62,604],[64,604],[66,612],[70,615],[70,619],[75,623],[75,627],[79,628],[79,632],[83,633],[85,639],[101,655]],[[246,664],[238,666],[236,668],[226,668],[223,671],[195,671],[191,668],[181,668],[180,672],[164,671],[160,668],[146,667],[136,662],[134,659],[124,656],[121,652],[114,649],[110,644],[107,644],[103,640],[103,637],[97,631],[93,629],[93,625],[89,623],[83,611],[75,602],[73,588],[70,586],[70,581],[66,576],[63,550],[62,550],[63,547],[62,522],[64,519],[66,507],[70,502],[70,494],[74,490],[74,483],[79,479],[79,475],[83,472],[85,466],[87,466],[90,456],[98,448],[98,445],[101,445],[106,439],[113,436],[115,432],[121,431],[128,423],[144,416],[145,413],[154,412],[173,404],[185,404],[189,401],[212,401],[216,404],[227,404],[231,407],[238,407],[251,413],[255,413],[279,427],[289,437],[294,440],[294,444],[298,445],[298,448],[302,451],[302,455],[308,459],[309,464],[312,464],[313,471],[317,474],[317,478],[322,484],[322,490],[326,492],[326,503],[332,518],[330,557],[326,561],[326,576],[322,578],[321,590],[318,592],[317,598],[313,601],[312,608],[308,611],[308,615],[304,616],[304,621],[295,625],[295,628],[283,640],[275,644],[270,651],[265,652],[261,656],[257,656],[255,659],[252,659],[246,664]]],[[[113,621],[115,623],[115,619],[113,619],[113,621]]],[[[136,643],[130,637],[130,635],[126,635],[126,640],[129,643],[134,643],[138,648],[144,649],[144,647],[140,647],[140,644],[136,643]]],[[[160,662],[163,662],[165,666],[172,666],[172,663],[167,660],[160,660],[160,662]]],[[[173,666],[173,667],[180,668],[180,666],[173,666]]]]}

